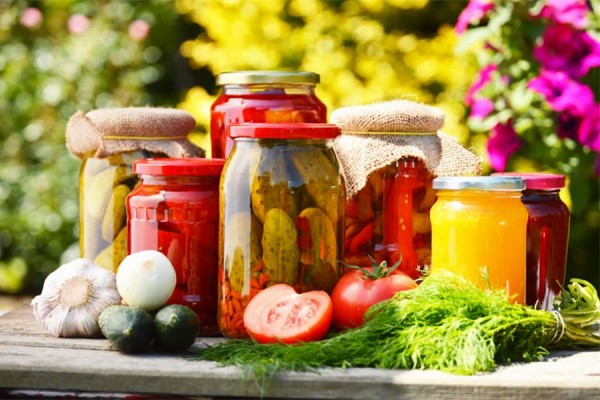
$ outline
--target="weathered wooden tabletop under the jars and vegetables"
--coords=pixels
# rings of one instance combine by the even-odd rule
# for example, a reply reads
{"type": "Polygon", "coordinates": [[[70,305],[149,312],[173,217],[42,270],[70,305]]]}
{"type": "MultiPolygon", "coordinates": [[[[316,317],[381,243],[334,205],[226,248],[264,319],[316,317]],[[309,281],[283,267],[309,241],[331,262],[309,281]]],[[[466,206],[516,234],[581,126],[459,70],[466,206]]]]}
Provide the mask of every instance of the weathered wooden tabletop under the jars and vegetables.
{"type": "MultiPolygon", "coordinates": [[[[104,339],[50,337],[26,305],[0,317],[0,388],[149,393],[191,397],[258,397],[238,368],[193,360],[193,350],[220,339],[199,338],[183,355],[124,355],[104,339]]],[[[269,397],[328,399],[600,399],[600,351],[557,352],[541,362],[493,373],[324,369],[287,373],[269,397]]]]}

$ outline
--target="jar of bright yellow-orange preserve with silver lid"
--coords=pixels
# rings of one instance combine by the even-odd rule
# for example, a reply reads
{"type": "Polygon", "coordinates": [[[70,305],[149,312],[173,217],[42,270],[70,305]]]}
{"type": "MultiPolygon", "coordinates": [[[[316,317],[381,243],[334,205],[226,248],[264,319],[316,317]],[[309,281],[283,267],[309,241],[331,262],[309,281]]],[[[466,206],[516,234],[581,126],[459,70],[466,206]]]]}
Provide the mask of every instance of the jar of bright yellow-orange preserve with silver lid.
{"type": "Polygon", "coordinates": [[[515,177],[444,177],[433,181],[431,270],[445,269],[525,304],[525,183],[515,177]],[[484,272],[485,270],[485,272],[484,272]]]}

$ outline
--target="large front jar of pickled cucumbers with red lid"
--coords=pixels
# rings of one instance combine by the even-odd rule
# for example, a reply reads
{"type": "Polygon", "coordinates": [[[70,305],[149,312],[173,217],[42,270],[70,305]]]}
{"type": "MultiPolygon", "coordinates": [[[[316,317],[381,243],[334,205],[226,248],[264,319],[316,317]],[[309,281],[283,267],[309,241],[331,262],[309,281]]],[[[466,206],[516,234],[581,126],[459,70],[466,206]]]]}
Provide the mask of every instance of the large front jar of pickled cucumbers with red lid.
{"type": "Polygon", "coordinates": [[[250,299],[276,283],[331,293],[340,277],[345,186],[328,124],[242,124],[221,180],[219,328],[246,338],[250,299]]]}

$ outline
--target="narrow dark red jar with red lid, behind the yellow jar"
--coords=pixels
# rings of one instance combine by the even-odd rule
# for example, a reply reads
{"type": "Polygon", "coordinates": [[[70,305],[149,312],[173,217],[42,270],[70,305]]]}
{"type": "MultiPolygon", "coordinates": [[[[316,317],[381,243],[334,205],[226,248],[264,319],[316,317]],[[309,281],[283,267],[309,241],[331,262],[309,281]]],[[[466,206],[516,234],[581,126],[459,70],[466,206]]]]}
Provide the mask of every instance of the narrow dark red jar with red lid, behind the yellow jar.
{"type": "Polygon", "coordinates": [[[527,207],[527,305],[553,309],[565,282],[569,241],[569,208],[559,197],[565,176],[544,173],[497,173],[525,181],[522,202],[527,207]]]}

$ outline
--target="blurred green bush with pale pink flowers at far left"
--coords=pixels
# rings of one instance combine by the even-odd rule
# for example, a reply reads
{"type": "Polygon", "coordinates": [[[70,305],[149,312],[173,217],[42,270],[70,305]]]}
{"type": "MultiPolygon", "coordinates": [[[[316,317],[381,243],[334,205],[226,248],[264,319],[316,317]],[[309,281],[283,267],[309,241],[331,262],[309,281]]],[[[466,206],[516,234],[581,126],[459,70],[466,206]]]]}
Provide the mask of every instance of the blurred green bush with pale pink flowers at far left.
{"type": "Polygon", "coordinates": [[[159,83],[177,21],[158,0],[0,3],[0,293],[38,291],[65,250],[77,254],[80,163],[66,122],[78,109],[173,104],[159,83]],[[130,34],[135,20],[149,37],[130,34]]]}

